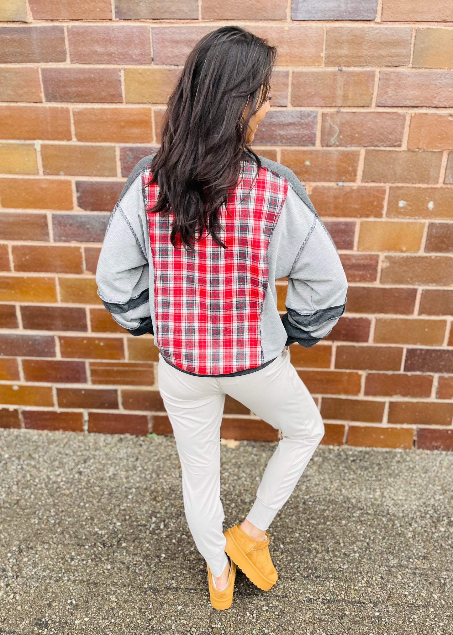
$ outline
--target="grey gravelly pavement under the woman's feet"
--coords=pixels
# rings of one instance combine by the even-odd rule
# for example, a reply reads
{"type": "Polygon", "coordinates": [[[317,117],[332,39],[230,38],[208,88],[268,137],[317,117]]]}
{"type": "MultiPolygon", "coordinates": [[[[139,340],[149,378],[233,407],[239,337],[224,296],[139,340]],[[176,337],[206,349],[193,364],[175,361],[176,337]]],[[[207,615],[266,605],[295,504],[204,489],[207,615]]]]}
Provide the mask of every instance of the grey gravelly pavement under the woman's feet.
{"type": "MultiPolygon", "coordinates": [[[[274,443],[222,446],[225,527],[274,443]]],[[[320,446],[270,528],[279,582],[209,603],[173,438],[0,431],[0,633],[452,635],[453,453],[320,446]]]]}

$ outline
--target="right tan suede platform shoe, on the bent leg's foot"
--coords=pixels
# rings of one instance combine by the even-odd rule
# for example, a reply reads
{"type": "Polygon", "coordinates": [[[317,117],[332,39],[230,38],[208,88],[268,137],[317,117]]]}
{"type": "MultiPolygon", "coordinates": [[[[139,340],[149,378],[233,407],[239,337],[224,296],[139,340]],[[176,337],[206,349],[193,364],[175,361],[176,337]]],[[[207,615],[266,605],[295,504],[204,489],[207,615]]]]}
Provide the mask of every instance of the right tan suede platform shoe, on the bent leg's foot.
{"type": "Polygon", "coordinates": [[[238,524],[224,531],[223,535],[226,538],[225,551],[232,561],[259,589],[269,591],[279,576],[270,558],[267,531],[267,540],[254,540],[238,524]]]}

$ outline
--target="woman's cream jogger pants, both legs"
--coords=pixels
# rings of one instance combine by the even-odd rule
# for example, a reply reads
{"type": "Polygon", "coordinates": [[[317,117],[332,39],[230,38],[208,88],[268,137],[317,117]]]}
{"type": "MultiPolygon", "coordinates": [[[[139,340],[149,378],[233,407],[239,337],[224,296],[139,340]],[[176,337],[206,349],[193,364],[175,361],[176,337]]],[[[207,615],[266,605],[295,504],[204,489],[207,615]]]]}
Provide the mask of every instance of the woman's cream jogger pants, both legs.
{"type": "Polygon", "coordinates": [[[261,370],[237,377],[196,377],[167,364],[159,353],[161,392],[181,461],[187,523],[214,575],[228,560],[220,500],[220,424],[225,394],[282,432],[247,519],[266,530],[296,486],[324,436],[317,405],[285,349],[261,370]]]}

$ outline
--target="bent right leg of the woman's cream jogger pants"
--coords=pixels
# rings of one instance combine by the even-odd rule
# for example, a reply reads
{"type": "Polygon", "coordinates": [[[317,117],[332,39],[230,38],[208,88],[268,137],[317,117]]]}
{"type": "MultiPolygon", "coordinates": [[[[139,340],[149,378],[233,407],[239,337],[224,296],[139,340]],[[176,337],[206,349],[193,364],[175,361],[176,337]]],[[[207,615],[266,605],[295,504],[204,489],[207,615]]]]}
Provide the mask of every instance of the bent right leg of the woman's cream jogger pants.
{"type": "MultiPolygon", "coordinates": [[[[249,523],[265,531],[312,458],[324,436],[324,424],[315,401],[291,364],[289,350],[266,368],[238,380],[237,384],[225,386],[225,392],[283,435],[247,514],[249,523]]],[[[222,385],[221,378],[219,382],[222,385]]]]}

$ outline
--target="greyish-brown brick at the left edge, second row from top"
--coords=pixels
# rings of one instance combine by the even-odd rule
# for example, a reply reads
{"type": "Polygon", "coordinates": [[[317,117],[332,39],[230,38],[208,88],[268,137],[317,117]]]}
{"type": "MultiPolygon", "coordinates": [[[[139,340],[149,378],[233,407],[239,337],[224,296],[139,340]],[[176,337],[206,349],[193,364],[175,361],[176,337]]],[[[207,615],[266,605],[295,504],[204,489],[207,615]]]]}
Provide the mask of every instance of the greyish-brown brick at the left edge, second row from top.
{"type": "Polygon", "coordinates": [[[0,64],[65,62],[65,30],[60,26],[0,27],[0,64]]]}

